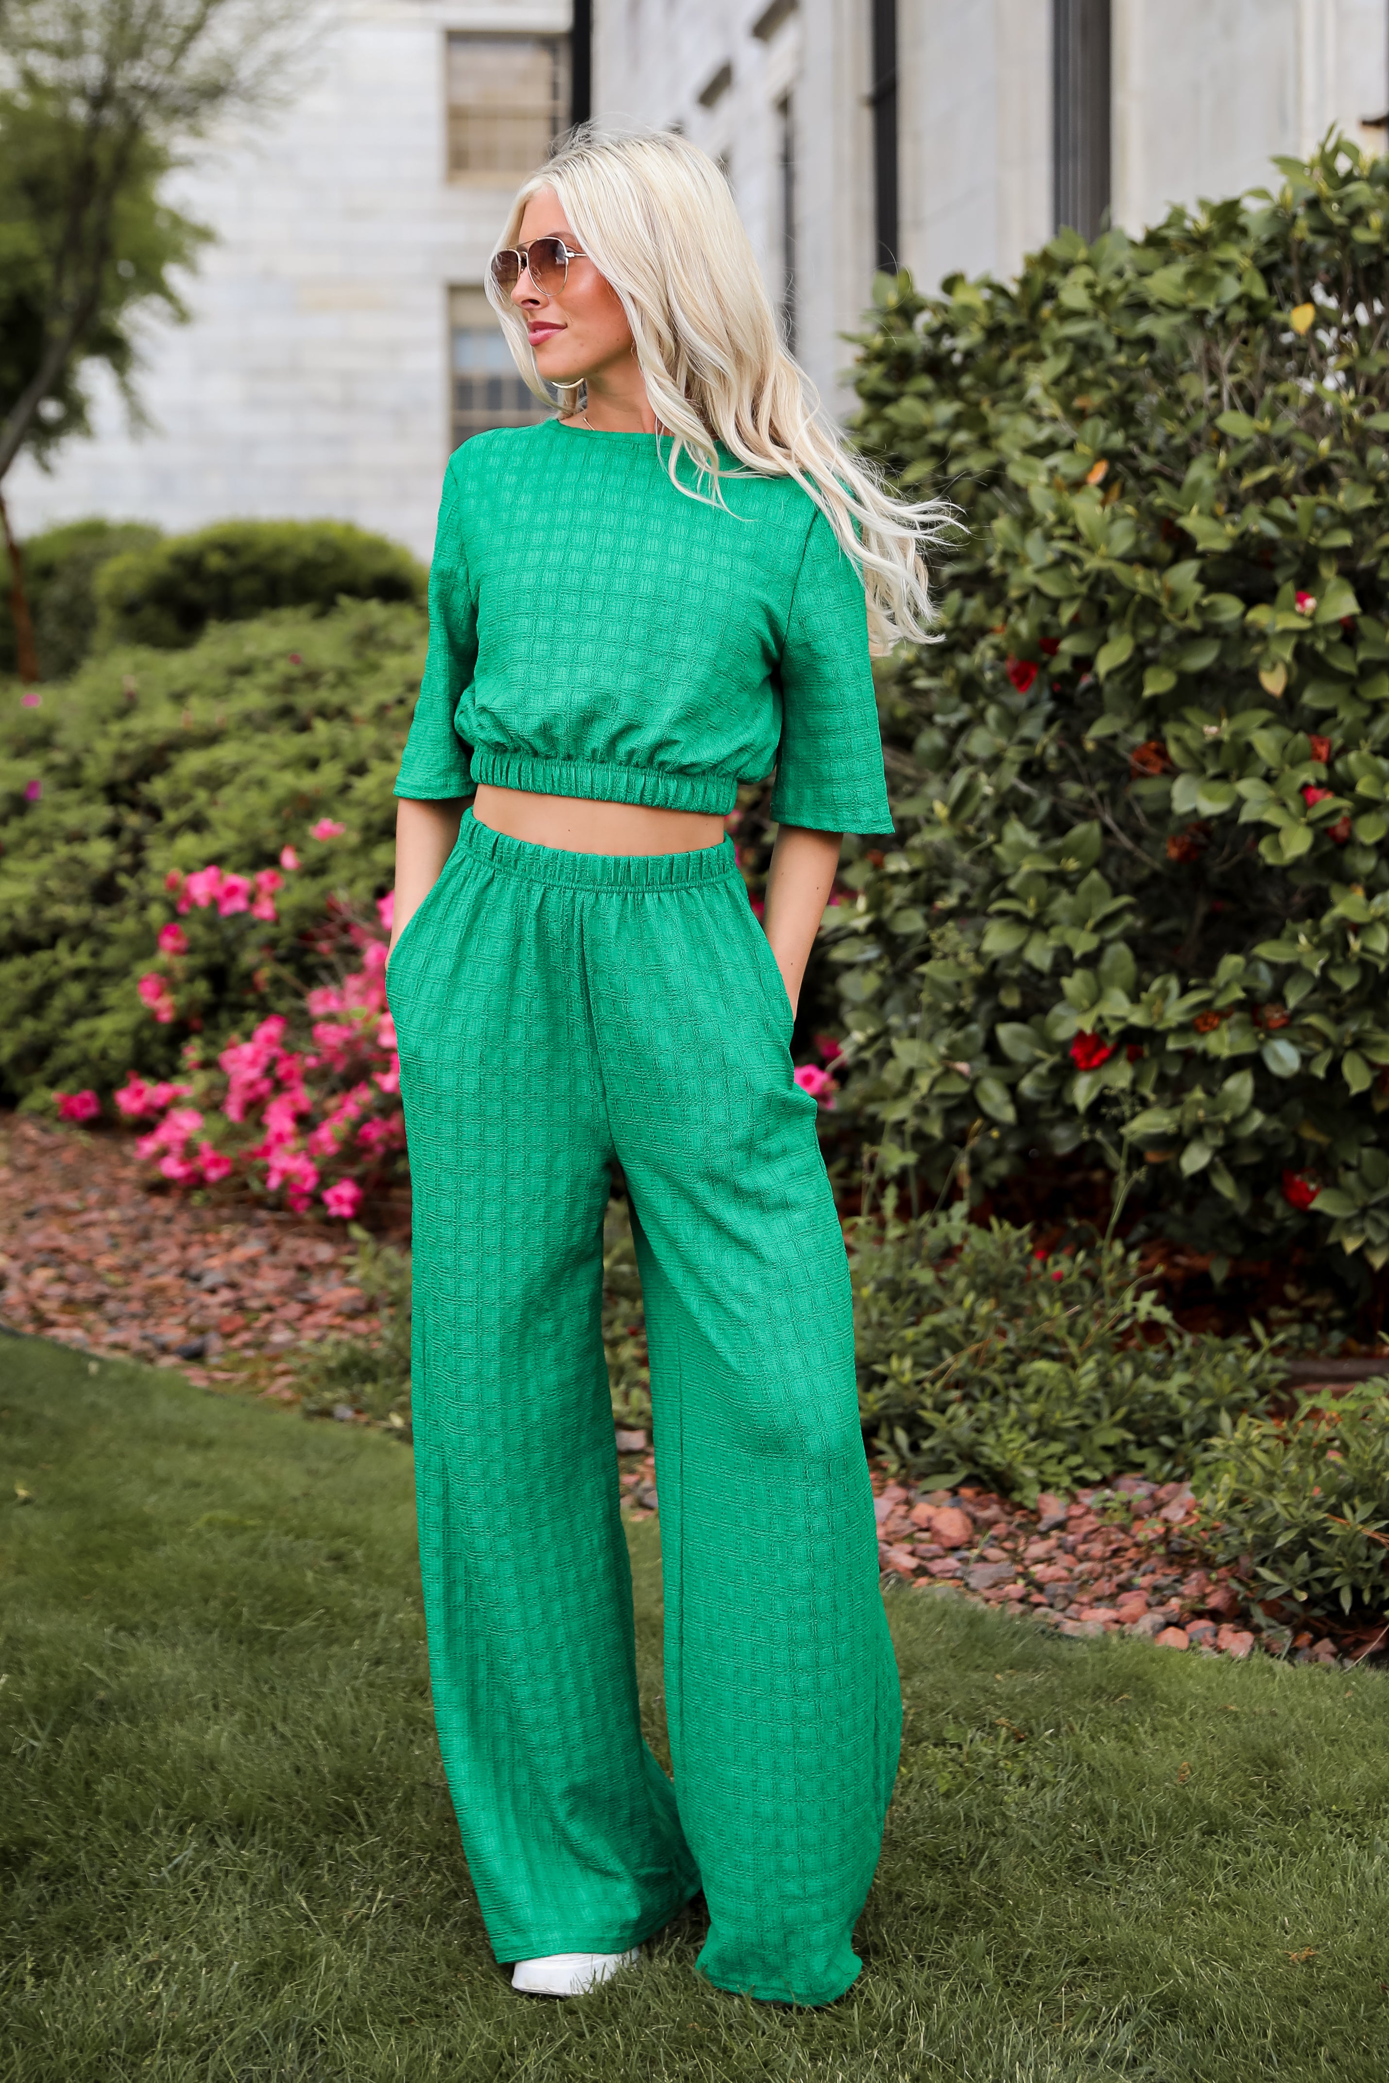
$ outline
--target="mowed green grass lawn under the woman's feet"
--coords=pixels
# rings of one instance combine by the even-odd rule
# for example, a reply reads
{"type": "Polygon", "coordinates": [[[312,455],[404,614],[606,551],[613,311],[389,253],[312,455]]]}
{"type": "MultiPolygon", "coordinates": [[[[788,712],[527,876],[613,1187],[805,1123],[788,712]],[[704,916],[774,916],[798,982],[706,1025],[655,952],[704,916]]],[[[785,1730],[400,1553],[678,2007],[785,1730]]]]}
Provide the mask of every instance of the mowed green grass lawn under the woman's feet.
{"type": "Polygon", "coordinates": [[[689,1918],[608,1989],[525,2000],[433,1748],[408,1450],[21,1339],[0,1435],[6,2083],[1383,2083],[1383,1677],[898,1591],[856,1989],[721,1996],[689,1918]]]}

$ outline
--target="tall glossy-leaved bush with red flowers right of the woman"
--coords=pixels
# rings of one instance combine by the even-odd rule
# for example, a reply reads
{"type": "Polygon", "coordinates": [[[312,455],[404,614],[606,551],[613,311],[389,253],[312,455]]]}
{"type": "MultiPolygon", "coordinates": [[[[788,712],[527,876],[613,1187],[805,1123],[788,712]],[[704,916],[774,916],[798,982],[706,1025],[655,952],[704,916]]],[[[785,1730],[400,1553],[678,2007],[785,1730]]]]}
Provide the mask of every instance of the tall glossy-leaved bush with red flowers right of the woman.
{"type": "Polygon", "coordinates": [[[858,440],[964,533],[829,952],[885,1175],[1127,1144],[1150,1229],[1379,1269],[1389,158],[1279,167],[1016,283],[879,279],[858,440]]]}

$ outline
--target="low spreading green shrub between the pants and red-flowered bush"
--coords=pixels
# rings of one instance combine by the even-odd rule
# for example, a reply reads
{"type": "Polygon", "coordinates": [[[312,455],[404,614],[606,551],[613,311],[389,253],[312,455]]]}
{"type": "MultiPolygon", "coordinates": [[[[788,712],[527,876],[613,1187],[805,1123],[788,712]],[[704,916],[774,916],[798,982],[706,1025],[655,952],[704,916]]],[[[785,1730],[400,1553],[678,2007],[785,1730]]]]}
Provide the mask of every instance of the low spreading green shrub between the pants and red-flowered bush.
{"type": "Polygon", "coordinates": [[[964,1202],[850,1225],[858,1402],[879,1450],[952,1487],[1033,1502],[1112,1475],[1187,1477],[1283,1379],[1262,1339],[1189,1337],[1137,1254],[1041,1250],[964,1202]]]}

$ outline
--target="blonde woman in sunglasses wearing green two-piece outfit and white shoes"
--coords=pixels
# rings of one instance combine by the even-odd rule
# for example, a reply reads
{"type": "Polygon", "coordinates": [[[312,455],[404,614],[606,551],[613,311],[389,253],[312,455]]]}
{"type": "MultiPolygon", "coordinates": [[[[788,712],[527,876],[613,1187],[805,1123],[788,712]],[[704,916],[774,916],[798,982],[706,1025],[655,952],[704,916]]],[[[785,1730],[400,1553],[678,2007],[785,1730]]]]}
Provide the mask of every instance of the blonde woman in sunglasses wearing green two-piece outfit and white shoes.
{"type": "Polygon", "coordinates": [[[812,417],[712,160],[577,133],[491,300],[560,419],[444,485],[389,998],[444,1762],[498,1960],[573,1993],[704,1889],[702,1971],[825,2004],[900,1689],[843,1237],[787,1044],[918,539],[812,417]],[[725,817],[777,767],[758,927],[725,817]],[[600,1337],[610,1166],[652,1354],[675,1787],[641,1741],[600,1337]]]}

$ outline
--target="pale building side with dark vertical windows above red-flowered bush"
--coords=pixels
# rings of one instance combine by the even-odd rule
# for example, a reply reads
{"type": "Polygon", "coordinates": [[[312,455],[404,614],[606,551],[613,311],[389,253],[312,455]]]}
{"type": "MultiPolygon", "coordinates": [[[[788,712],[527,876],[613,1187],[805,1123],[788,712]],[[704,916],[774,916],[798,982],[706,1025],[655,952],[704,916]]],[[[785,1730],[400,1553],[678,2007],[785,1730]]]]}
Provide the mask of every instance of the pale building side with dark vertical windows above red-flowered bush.
{"type": "Polygon", "coordinates": [[[1385,0],[608,0],[594,106],[729,169],[835,404],[877,262],[1010,273],[1058,223],[1224,196],[1337,123],[1385,148],[1385,0]],[[1366,125],[1366,119],[1368,125],[1366,125]]]}

